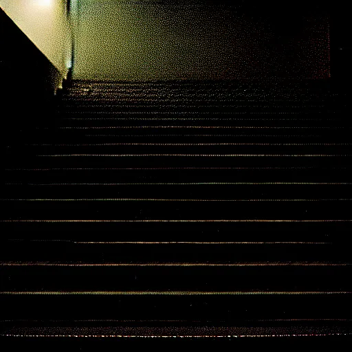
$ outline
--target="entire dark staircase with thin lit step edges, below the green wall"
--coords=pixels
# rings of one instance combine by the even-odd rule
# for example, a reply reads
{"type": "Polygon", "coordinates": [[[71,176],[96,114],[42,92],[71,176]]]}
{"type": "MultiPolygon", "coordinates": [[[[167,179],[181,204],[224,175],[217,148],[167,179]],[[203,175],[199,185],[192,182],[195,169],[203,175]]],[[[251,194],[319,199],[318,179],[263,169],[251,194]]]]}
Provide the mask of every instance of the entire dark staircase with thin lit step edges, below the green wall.
{"type": "Polygon", "coordinates": [[[347,112],[315,81],[74,80],[3,144],[1,334],[350,336],[347,112]]]}

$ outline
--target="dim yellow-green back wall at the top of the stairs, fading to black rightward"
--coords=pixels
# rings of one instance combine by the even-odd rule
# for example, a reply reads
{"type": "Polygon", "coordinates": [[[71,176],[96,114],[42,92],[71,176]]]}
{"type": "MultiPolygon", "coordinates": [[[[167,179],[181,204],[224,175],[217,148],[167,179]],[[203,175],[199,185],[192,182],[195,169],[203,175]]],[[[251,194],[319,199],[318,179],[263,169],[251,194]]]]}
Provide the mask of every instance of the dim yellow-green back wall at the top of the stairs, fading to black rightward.
{"type": "Polygon", "coordinates": [[[329,76],[326,19],[262,3],[252,16],[220,0],[75,0],[74,78],[329,76]]]}

